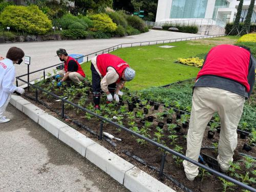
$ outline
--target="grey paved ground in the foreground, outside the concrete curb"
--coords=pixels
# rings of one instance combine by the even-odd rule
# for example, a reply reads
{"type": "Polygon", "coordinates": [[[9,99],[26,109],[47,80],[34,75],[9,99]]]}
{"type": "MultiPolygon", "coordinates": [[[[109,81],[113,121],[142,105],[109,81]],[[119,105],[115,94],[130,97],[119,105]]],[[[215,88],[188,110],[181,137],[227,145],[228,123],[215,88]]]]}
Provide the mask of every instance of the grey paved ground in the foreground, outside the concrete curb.
{"type": "Polygon", "coordinates": [[[9,104],[0,124],[0,191],[129,191],[9,104]]]}

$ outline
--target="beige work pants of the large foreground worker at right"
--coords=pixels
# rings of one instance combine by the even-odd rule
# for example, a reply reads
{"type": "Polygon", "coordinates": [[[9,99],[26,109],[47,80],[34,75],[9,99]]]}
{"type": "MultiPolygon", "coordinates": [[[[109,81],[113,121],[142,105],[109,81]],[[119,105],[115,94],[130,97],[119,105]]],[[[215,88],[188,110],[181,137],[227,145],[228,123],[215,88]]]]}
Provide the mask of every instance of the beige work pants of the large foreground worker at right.
{"type": "MultiPolygon", "coordinates": [[[[226,90],[196,87],[187,133],[186,156],[198,161],[206,125],[217,112],[221,119],[217,160],[222,170],[228,170],[228,162],[233,161],[233,151],[237,147],[237,126],[243,113],[244,101],[245,97],[226,90]]],[[[183,166],[189,180],[198,175],[198,166],[185,160],[183,166]]]]}

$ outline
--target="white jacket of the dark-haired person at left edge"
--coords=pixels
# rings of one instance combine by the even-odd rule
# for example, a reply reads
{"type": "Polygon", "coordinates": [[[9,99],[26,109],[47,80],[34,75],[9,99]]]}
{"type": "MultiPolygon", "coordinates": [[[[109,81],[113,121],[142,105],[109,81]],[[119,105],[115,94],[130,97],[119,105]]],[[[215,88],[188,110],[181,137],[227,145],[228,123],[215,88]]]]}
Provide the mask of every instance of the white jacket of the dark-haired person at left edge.
{"type": "Polygon", "coordinates": [[[10,59],[0,60],[0,108],[5,104],[8,95],[17,87],[14,86],[15,68],[10,59]]]}

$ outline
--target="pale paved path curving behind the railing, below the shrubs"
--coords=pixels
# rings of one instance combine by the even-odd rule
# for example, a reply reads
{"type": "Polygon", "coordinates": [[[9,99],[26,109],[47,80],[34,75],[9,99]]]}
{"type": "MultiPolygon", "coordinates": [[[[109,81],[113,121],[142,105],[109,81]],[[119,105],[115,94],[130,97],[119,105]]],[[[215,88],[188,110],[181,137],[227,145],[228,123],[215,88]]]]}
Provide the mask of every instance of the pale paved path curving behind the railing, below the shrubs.
{"type": "MultiPolygon", "coordinates": [[[[69,54],[76,53],[86,55],[121,43],[195,36],[202,35],[150,30],[150,32],[142,33],[140,35],[111,39],[62,40],[2,44],[0,46],[0,55],[5,56],[10,47],[19,47],[24,50],[25,55],[31,56],[30,69],[31,71],[35,71],[59,63],[60,61],[58,57],[54,57],[58,48],[66,49],[69,54]]],[[[22,65],[16,66],[17,76],[25,74],[26,72],[27,66],[24,65],[24,62],[22,65]]],[[[40,76],[42,76],[42,74],[34,74],[31,76],[31,79],[33,80],[35,78],[39,78],[40,76]]]]}

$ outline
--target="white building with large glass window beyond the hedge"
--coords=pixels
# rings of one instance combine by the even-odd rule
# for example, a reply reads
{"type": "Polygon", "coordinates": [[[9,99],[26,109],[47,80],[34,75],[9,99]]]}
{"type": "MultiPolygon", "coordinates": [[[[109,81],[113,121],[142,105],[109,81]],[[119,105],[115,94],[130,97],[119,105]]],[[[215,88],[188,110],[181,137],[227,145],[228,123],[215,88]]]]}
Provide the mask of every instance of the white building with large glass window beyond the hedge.
{"type": "MultiPolygon", "coordinates": [[[[159,0],[156,22],[186,22],[224,25],[236,18],[239,1],[236,0],[159,0]]],[[[244,0],[241,20],[247,14],[250,1],[244,0]]],[[[256,2],[251,18],[256,22],[256,2]]]]}

